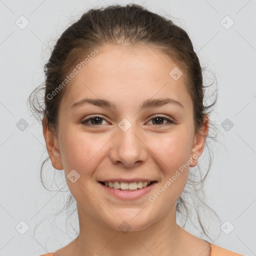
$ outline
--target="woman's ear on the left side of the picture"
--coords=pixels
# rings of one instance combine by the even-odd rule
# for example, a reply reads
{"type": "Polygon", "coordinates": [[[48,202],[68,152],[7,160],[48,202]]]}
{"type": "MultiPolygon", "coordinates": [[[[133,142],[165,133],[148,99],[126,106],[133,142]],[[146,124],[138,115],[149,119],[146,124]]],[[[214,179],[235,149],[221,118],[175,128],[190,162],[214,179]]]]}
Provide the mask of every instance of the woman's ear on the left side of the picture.
{"type": "Polygon", "coordinates": [[[59,152],[58,140],[56,138],[54,131],[51,131],[47,127],[47,121],[45,116],[43,117],[43,120],[42,120],[42,132],[43,132],[43,136],[46,144],[46,149],[50,157],[51,165],[55,169],[62,170],[63,165],[62,165],[61,155],[59,152]]]}

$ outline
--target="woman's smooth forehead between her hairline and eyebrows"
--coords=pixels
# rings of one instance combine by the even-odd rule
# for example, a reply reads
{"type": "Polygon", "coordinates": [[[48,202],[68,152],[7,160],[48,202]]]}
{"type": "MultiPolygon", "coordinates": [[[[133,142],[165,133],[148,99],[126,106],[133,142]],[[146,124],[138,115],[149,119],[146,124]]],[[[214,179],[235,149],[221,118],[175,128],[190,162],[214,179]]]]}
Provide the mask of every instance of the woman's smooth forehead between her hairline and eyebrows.
{"type": "Polygon", "coordinates": [[[172,70],[179,70],[178,76],[181,74],[177,68],[167,54],[156,48],[104,45],[80,70],[77,69],[77,74],[67,84],[62,101],[70,107],[83,96],[99,97],[118,105],[124,103],[124,99],[139,104],[144,99],[169,96],[191,107],[184,72],[173,79],[172,70]]]}

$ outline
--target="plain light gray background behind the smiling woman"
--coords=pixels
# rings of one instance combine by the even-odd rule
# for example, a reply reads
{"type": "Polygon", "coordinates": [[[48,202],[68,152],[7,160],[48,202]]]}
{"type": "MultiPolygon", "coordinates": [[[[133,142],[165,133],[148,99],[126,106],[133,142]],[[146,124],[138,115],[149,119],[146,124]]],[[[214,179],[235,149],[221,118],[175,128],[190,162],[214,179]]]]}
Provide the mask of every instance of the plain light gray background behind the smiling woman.
{"type": "MultiPolygon", "coordinates": [[[[65,230],[64,214],[58,220],[47,215],[63,206],[67,193],[48,192],[41,185],[40,164],[47,154],[42,128],[29,116],[26,100],[43,82],[43,65],[50,47],[71,21],[88,8],[128,2],[0,0],[0,255],[53,252],[75,237],[65,230]],[[26,20],[21,15],[29,21],[23,29],[20,26],[26,20]],[[23,131],[22,118],[28,124],[23,131]],[[35,224],[45,216],[34,234],[35,224]],[[20,221],[29,226],[24,234],[20,232],[25,224],[20,221]]],[[[188,32],[202,66],[216,75],[218,100],[212,120],[219,128],[222,144],[214,147],[214,164],[205,193],[208,205],[224,225],[211,238],[219,246],[256,255],[256,1],[135,3],[173,16],[176,24],[188,32]],[[229,125],[229,130],[224,125],[229,125]]],[[[50,165],[48,169],[50,176],[54,170],[50,165]]],[[[61,179],[61,171],[57,173],[61,179]]],[[[205,221],[211,228],[220,228],[213,218],[206,216],[205,221]]],[[[187,230],[197,234],[193,226],[187,230]]]]}

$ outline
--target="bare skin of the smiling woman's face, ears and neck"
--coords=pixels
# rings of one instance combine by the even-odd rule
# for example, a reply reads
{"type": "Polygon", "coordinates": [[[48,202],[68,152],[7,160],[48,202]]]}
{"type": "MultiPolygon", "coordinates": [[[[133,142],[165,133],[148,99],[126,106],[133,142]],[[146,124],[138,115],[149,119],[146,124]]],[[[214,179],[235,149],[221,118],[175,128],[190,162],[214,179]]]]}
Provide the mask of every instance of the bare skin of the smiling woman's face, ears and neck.
{"type": "Polygon", "coordinates": [[[52,166],[63,169],[65,176],[72,169],[80,175],[74,183],[66,177],[77,202],[80,232],[55,256],[209,256],[209,244],[176,223],[176,200],[189,167],[154,202],[148,200],[191,156],[202,153],[208,132],[205,117],[200,132],[194,133],[193,104],[184,71],[178,80],[169,75],[175,66],[165,53],[153,48],[108,44],[66,85],[58,133],[43,124],[43,135],[52,166]],[[71,108],[85,97],[113,101],[116,109],[89,103],[71,108]],[[183,108],[171,103],[139,107],[146,99],[165,97],[179,101],[183,108]],[[88,121],[91,126],[81,123],[94,114],[103,118],[100,124],[95,119],[88,121]],[[158,124],[156,114],[174,122],[160,119],[158,124]],[[131,124],[127,131],[118,127],[123,118],[131,124]],[[157,184],[138,199],[121,200],[104,192],[98,183],[117,177],[144,177],[157,184]],[[123,221],[130,226],[125,233],[118,228],[123,221]]]}

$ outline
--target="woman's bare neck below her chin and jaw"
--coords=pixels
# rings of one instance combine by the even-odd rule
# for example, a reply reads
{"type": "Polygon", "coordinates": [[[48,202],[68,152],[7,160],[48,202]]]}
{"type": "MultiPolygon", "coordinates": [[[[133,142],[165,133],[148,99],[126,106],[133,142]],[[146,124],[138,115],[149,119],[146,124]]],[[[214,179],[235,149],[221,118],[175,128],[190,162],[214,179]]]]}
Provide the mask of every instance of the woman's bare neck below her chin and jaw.
{"type": "Polygon", "coordinates": [[[72,255],[178,255],[183,229],[176,224],[175,206],[141,230],[122,232],[100,223],[77,203],[80,230],[74,240],[72,255]]]}

